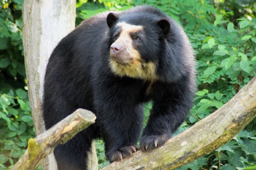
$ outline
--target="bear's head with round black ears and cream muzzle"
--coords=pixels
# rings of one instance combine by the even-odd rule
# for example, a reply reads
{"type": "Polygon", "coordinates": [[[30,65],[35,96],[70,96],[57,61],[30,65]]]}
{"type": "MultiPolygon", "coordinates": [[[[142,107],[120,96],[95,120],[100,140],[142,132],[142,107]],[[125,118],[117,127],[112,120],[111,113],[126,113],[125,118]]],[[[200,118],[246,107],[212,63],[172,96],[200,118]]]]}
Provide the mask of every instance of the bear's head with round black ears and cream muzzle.
{"type": "Polygon", "coordinates": [[[121,77],[156,80],[157,64],[165,49],[170,22],[143,13],[118,16],[111,12],[107,25],[111,71],[121,77]]]}

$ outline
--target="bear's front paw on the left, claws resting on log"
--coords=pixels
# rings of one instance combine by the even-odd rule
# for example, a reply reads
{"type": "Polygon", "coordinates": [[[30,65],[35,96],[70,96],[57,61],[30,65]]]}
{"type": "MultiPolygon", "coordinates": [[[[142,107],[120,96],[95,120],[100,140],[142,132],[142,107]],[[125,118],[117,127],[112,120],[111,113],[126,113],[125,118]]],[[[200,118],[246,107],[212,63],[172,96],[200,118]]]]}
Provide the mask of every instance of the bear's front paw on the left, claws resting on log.
{"type": "Polygon", "coordinates": [[[140,148],[135,144],[121,147],[119,150],[111,154],[109,161],[111,163],[114,161],[121,161],[124,158],[131,157],[133,153],[137,152],[137,150],[140,150],[140,148]]]}

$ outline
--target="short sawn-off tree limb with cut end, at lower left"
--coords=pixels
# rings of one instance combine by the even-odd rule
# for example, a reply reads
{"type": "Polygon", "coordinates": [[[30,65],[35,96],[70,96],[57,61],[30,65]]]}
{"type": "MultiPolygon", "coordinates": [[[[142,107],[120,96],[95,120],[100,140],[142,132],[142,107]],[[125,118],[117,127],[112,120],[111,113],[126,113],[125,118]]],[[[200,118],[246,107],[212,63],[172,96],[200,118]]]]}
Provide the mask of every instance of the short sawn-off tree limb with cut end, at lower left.
{"type": "Polygon", "coordinates": [[[12,170],[34,170],[41,159],[52,153],[54,147],[73,138],[81,130],[93,124],[95,119],[96,116],[89,110],[77,109],[45,133],[30,138],[28,149],[12,170]]]}

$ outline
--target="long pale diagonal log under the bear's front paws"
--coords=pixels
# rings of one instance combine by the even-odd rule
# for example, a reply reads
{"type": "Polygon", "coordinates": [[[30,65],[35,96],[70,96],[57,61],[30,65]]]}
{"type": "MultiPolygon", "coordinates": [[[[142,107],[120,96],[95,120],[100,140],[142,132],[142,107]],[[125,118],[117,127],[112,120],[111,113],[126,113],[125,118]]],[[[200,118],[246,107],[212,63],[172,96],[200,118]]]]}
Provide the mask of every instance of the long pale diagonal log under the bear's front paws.
{"type": "Polygon", "coordinates": [[[174,170],[229,142],[256,117],[256,77],[223,107],[150,152],[102,170],[174,170]]]}

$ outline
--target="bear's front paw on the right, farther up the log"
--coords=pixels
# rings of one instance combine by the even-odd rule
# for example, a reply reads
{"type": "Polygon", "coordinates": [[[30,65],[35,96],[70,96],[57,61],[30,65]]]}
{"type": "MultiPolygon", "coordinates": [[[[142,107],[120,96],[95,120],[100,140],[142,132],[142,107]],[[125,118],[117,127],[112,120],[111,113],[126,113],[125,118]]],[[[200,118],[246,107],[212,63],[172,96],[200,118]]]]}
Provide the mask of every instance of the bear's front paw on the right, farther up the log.
{"type": "Polygon", "coordinates": [[[168,141],[168,135],[142,135],[140,139],[140,149],[148,151],[162,146],[168,141]]]}

